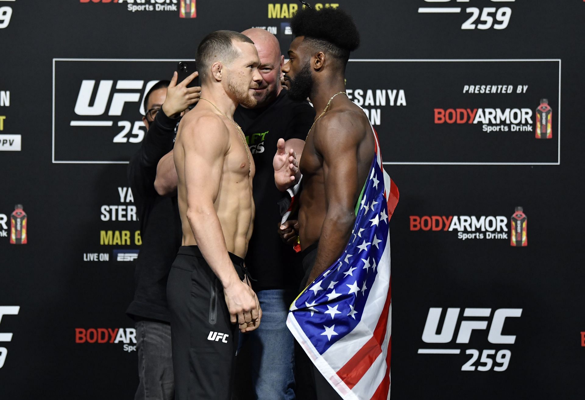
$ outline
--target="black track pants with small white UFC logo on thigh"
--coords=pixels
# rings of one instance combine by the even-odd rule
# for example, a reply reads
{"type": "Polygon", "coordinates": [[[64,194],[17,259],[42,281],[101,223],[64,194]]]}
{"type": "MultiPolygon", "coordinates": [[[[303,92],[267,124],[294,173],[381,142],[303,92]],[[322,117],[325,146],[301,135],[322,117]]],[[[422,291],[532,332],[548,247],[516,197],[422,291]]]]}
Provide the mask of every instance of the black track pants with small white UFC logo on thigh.
{"type": "MultiPolygon", "coordinates": [[[[229,253],[240,279],[244,260],[229,253]]],[[[238,325],[223,287],[197,246],[181,246],[167,281],[175,399],[232,398],[238,325]]]]}

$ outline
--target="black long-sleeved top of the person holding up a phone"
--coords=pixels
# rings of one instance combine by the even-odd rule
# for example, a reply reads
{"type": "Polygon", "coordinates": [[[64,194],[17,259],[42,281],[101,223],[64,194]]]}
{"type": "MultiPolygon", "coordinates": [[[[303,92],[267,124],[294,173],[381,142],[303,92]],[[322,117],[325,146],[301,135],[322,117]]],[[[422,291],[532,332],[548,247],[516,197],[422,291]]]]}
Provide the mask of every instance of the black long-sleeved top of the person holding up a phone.
{"type": "Polygon", "coordinates": [[[178,119],[159,111],[128,165],[142,237],[134,274],[134,299],[126,310],[135,319],[170,321],[167,278],[183,233],[177,196],[159,196],[154,190],[154,179],[160,158],[173,149],[177,122],[178,119]]]}

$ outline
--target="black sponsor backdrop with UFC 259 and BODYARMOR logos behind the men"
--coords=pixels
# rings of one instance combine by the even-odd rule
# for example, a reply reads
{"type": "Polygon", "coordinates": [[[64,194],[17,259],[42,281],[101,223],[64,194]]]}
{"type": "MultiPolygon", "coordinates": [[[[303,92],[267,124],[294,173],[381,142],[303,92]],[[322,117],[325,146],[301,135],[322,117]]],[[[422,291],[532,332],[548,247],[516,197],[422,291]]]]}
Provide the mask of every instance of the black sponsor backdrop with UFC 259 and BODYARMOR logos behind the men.
{"type": "MultiPolygon", "coordinates": [[[[190,19],[175,0],[0,1],[0,150],[13,150],[0,153],[1,398],[133,396],[124,311],[140,236],[125,162],[142,140],[142,96],[212,30],[266,27],[286,50],[291,4],[200,0],[190,19]],[[9,243],[16,204],[26,244],[9,243]]],[[[583,398],[585,3],[338,6],[362,35],[347,89],[401,192],[392,398],[583,398]],[[552,139],[535,139],[542,98],[552,139]],[[442,112],[463,123],[436,123],[442,112]],[[517,206],[526,247],[510,245],[517,206]],[[505,228],[490,230],[497,217],[505,228]]]]}

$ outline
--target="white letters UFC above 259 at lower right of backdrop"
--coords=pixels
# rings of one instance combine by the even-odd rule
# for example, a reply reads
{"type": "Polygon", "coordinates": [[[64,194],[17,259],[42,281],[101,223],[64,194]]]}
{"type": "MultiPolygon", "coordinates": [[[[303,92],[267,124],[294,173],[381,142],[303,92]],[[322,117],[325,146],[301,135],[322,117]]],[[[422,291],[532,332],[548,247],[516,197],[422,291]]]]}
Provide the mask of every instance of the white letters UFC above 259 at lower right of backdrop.
{"type": "MultiPolygon", "coordinates": [[[[426,316],[425,328],[422,332],[422,341],[425,343],[449,343],[453,340],[455,327],[459,319],[460,308],[448,308],[441,332],[437,333],[442,308],[429,308],[426,316]]],[[[456,343],[469,343],[473,330],[486,330],[491,315],[491,308],[466,308],[463,311],[464,317],[480,317],[486,320],[465,320],[461,321],[456,343]]],[[[516,335],[502,335],[502,329],[506,318],[519,317],[522,315],[521,308],[498,308],[491,318],[491,326],[487,340],[494,344],[513,344],[516,335]]]]}

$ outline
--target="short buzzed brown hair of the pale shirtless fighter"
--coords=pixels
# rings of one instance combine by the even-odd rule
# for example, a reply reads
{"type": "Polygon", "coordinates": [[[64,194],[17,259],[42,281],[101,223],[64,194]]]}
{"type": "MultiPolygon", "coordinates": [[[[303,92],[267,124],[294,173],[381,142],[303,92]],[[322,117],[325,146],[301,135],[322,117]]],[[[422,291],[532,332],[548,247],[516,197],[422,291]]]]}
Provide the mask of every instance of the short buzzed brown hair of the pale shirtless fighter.
{"type": "Polygon", "coordinates": [[[233,30],[216,30],[205,36],[197,47],[197,69],[201,80],[207,78],[209,67],[215,61],[230,63],[238,57],[238,50],[233,47],[233,41],[252,43],[252,39],[233,30]]]}

